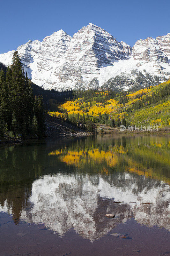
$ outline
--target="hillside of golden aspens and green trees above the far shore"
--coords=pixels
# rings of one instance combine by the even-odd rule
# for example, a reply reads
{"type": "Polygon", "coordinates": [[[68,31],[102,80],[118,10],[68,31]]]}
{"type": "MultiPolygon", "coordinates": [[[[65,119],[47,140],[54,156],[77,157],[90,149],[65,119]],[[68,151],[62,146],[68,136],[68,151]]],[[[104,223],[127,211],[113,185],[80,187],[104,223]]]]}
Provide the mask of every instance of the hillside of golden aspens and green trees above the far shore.
{"type": "Polygon", "coordinates": [[[170,80],[136,92],[87,90],[75,93],[74,99],[65,101],[48,112],[70,123],[128,125],[170,125],[170,80]],[[114,121],[113,121],[114,119],[114,121]]]}

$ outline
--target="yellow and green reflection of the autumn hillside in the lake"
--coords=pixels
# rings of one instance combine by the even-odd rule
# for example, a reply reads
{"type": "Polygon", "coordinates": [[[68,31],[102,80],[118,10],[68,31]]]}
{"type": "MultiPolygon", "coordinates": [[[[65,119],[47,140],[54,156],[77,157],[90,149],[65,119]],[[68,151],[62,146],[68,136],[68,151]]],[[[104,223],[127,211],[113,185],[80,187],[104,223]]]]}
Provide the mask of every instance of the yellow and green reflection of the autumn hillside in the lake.
{"type": "Polygon", "coordinates": [[[163,138],[152,138],[149,143],[137,144],[131,143],[129,146],[122,145],[114,146],[108,145],[107,150],[100,150],[99,148],[84,148],[82,150],[71,150],[63,148],[61,150],[54,150],[48,156],[56,156],[57,159],[65,164],[73,165],[80,170],[88,168],[92,172],[110,174],[114,170],[124,171],[123,164],[126,164],[126,170],[143,177],[149,176],[158,180],[165,180],[170,184],[170,179],[166,171],[167,166],[170,165],[169,148],[170,141],[163,138]],[[129,152],[129,154],[127,154],[129,152]],[[153,165],[155,163],[155,165],[153,165]],[[156,163],[159,167],[155,168],[156,163]],[[121,168],[120,168],[120,164],[121,168]]]}

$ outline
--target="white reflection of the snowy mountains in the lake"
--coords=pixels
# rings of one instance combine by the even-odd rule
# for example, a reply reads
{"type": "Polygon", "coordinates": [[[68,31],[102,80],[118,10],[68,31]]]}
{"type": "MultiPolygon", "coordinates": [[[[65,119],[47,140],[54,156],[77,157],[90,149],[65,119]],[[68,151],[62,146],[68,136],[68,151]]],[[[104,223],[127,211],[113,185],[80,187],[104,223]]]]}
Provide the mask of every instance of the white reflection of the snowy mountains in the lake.
{"type": "MultiPolygon", "coordinates": [[[[112,176],[61,174],[45,175],[33,182],[29,206],[21,218],[43,223],[63,235],[71,228],[90,240],[110,232],[118,223],[134,217],[139,224],[170,230],[170,187],[163,181],[132,174],[112,176]],[[139,187],[142,182],[143,188],[139,187]],[[102,200],[103,199],[103,200],[102,200]],[[124,204],[112,204],[113,200],[124,204]],[[129,204],[151,202],[154,204],[129,204]],[[106,213],[114,213],[108,220],[106,213]]],[[[0,209],[1,211],[5,211],[0,209]]]]}

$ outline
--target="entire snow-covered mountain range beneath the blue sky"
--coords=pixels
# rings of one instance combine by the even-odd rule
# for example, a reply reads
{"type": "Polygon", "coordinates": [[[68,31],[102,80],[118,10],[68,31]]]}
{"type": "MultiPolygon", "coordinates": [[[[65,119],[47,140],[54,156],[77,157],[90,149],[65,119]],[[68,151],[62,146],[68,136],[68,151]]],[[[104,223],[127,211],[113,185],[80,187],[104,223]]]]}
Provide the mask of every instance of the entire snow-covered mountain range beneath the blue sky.
{"type": "MultiPolygon", "coordinates": [[[[170,33],[156,39],[140,39],[131,48],[90,23],[73,37],[59,30],[42,42],[28,41],[17,51],[33,83],[45,89],[126,89],[134,85],[139,74],[146,83],[151,80],[148,74],[152,78],[160,76],[160,80],[170,75],[170,33]],[[121,83],[115,78],[119,82],[122,79],[121,83]]],[[[0,62],[11,64],[13,52],[0,54],[0,62]]]]}

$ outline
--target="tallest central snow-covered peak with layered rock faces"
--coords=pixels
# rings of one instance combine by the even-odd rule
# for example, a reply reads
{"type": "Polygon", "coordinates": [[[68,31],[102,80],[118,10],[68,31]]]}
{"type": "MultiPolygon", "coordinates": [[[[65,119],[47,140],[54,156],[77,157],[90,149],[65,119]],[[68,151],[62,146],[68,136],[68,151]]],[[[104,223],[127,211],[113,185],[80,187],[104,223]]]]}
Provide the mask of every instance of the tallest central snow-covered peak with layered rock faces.
{"type": "Polygon", "coordinates": [[[129,52],[129,45],[118,42],[104,29],[90,23],[74,34],[64,60],[56,67],[54,75],[63,87],[69,83],[72,87],[75,84],[88,87],[94,77],[100,76],[102,66],[129,59],[129,52]]]}

